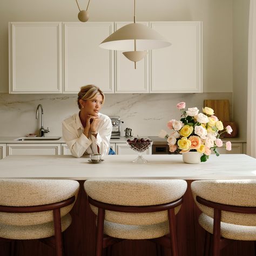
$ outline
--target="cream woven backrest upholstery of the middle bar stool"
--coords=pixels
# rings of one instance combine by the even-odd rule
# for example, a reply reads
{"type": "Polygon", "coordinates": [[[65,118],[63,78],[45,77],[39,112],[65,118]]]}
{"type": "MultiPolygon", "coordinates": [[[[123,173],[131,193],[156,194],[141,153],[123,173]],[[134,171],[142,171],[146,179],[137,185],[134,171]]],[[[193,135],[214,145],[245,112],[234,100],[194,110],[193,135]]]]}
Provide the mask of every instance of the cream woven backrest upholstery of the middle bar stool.
{"type": "MultiPolygon", "coordinates": [[[[84,188],[88,196],[108,204],[147,206],[170,203],[183,196],[185,180],[87,180],[84,188]]],[[[92,206],[97,215],[98,208],[92,206]]],[[[177,213],[180,206],[176,207],[177,213]]],[[[124,225],[150,225],[163,223],[167,211],[152,213],[105,212],[105,220],[124,225]]]]}

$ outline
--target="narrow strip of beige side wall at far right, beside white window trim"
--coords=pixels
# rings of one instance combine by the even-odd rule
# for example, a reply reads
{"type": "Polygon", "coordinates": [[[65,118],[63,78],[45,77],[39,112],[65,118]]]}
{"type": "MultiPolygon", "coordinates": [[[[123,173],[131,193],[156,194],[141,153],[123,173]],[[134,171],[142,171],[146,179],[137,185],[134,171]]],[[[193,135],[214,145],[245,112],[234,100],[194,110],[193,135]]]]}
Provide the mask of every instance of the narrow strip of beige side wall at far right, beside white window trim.
{"type": "Polygon", "coordinates": [[[233,112],[239,136],[246,138],[248,22],[250,0],[233,1],[233,112]]]}

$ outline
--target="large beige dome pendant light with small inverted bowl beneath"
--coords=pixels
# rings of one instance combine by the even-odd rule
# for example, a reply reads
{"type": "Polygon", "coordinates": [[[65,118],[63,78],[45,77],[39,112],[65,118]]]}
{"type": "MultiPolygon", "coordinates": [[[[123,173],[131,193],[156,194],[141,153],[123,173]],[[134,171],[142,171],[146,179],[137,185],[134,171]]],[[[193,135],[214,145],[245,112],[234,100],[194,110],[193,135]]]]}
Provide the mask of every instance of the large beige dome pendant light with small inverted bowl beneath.
{"type": "Polygon", "coordinates": [[[142,60],[146,55],[146,50],[158,49],[170,46],[171,43],[161,36],[157,31],[146,25],[136,23],[136,0],[134,0],[133,23],[123,26],[107,37],[100,47],[108,50],[125,51],[123,55],[134,62],[142,60]]]}

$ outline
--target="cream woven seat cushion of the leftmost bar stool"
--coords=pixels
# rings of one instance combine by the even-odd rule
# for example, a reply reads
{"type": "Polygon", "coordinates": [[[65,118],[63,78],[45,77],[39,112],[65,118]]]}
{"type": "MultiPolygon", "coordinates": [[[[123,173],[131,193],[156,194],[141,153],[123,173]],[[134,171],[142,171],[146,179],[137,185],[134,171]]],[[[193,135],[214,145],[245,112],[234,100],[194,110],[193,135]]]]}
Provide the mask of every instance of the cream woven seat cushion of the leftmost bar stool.
{"type": "MultiPolygon", "coordinates": [[[[65,231],[71,224],[70,214],[62,217],[62,231],[65,231]]],[[[39,225],[5,225],[0,223],[0,237],[6,239],[39,239],[52,237],[54,235],[53,221],[39,225]]],[[[1,253],[0,253],[1,254],[1,253]]]]}

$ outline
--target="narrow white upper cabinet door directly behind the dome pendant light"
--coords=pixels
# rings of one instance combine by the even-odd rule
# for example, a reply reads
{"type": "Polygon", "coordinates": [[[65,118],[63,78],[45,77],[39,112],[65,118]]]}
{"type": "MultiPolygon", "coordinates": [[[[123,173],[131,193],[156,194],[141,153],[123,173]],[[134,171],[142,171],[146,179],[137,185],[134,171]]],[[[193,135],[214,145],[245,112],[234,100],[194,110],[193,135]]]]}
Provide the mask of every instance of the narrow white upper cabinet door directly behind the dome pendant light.
{"type": "MultiPolygon", "coordinates": [[[[115,30],[131,22],[116,22],[115,30]]],[[[148,22],[138,22],[149,25],[148,22]]],[[[148,93],[149,92],[149,55],[136,63],[127,59],[123,51],[115,51],[116,60],[116,93],[148,93]]]]}

